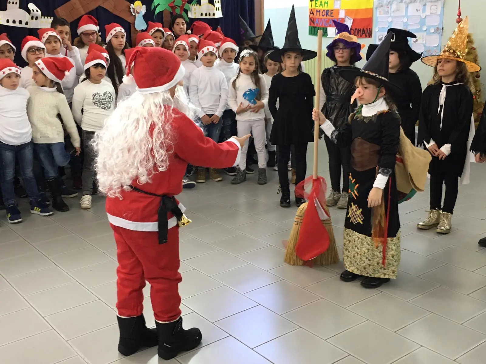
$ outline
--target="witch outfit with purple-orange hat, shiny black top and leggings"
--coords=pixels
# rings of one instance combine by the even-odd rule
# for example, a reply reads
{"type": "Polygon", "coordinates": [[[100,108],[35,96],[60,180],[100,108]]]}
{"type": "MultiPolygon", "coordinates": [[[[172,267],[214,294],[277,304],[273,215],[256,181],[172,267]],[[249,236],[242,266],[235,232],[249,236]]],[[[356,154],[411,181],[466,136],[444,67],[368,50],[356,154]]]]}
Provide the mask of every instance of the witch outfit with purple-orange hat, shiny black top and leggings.
{"type": "MultiPolygon", "coordinates": [[[[336,65],[325,68],[321,74],[321,91],[319,104],[321,105],[322,113],[329,119],[335,128],[343,127],[349,115],[356,109],[357,103],[351,101],[351,96],[354,94],[354,84],[348,82],[338,75],[338,72],[344,68],[351,68],[359,70],[354,66],[338,66],[334,54],[334,47],[338,43],[342,43],[344,47],[352,50],[349,63],[354,65],[361,61],[360,54],[362,46],[356,36],[351,35],[349,27],[346,24],[334,20],[336,26],[336,37],[326,47],[328,52],[326,56],[336,65]]],[[[346,209],[347,193],[348,193],[348,179],[349,179],[349,161],[351,159],[351,151],[349,146],[340,148],[334,144],[327,135],[324,135],[326,148],[329,154],[329,174],[332,190],[326,202],[328,206],[334,206],[336,203],[339,208],[346,209]],[[341,189],[341,167],[343,169],[343,188],[341,189]]]]}

